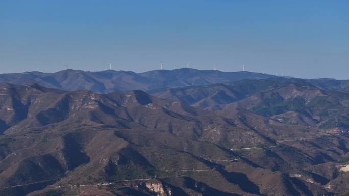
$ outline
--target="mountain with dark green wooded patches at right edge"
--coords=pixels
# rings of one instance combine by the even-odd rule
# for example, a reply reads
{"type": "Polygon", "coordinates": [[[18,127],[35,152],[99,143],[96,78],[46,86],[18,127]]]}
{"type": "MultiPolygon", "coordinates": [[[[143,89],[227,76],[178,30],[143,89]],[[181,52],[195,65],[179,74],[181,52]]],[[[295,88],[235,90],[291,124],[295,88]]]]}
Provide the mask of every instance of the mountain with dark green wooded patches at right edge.
{"type": "Polygon", "coordinates": [[[320,129],[347,129],[348,103],[347,93],[296,82],[258,92],[233,105],[266,117],[273,116],[280,122],[316,125],[320,129]]]}

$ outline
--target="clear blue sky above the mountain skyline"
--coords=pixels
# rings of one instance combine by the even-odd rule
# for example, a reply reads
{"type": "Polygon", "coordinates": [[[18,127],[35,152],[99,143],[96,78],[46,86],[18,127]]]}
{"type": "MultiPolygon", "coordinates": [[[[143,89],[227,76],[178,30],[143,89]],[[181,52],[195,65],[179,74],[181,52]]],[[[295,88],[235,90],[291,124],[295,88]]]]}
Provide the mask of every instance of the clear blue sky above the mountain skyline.
{"type": "Polygon", "coordinates": [[[0,1],[0,73],[183,67],[349,79],[349,1],[0,1]]]}

